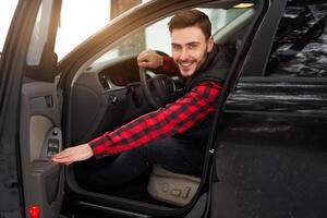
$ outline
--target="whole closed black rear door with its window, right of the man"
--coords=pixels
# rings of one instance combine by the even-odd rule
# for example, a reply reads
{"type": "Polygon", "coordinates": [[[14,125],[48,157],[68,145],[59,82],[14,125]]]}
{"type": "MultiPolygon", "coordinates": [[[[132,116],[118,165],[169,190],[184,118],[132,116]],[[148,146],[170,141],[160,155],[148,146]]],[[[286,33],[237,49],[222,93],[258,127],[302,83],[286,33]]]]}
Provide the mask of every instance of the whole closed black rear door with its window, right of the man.
{"type": "Polygon", "coordinates": [[[326,217],[326,75],[317,49],[326,45],[326,25],[310,16],[316,11],[303,10],[326,14],[326,8],[299,1],[271,5],[281,19],[264,20],[225,105],[213,217],[326,217]],[[302,35],[316,29],[319,35],[302,35]],[[294,68],[299,62],[305,68],[294,68]]]}

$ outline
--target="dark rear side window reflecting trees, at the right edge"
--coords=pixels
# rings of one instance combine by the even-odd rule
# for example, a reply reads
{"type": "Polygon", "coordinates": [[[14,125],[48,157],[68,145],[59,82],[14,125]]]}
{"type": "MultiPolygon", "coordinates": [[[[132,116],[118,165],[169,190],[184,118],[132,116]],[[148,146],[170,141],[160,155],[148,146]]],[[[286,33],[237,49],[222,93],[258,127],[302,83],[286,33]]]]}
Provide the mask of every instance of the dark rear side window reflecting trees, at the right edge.
{"type": "Polygon", "coordinates": [[[327,3],[289,1],[265,76],[326,77],[327,3]]]}

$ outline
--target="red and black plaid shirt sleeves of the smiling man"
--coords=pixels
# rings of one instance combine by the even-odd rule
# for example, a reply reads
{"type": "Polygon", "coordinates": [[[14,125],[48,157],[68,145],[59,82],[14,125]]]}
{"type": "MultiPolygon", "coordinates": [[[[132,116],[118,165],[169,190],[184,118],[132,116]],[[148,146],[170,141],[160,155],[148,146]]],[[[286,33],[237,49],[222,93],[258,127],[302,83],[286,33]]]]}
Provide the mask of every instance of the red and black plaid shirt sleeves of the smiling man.
{"type": "MultiPolygon", "coordinates": [[[[165,57],[162,71],[173,74],[178,68],[172,59],[165,57]]],[[[216,110],[220,90],[221,86],[216,82],[199,83],[175,102],[107,132],[88,144],[95,157],[100,158],[184,132],[216,110]]]]}

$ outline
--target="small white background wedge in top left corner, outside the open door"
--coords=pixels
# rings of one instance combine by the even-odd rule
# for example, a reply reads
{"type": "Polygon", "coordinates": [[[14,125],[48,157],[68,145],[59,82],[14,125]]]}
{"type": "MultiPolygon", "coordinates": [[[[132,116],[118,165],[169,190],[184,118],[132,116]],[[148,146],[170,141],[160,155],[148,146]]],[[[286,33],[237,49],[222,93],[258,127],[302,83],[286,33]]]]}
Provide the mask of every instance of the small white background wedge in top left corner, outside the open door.
{"type": "Polygon", "coordinates": [[[17,5],[17,0],[0,0],[0,52],[2,52],[7,33],[17,5]]]}

